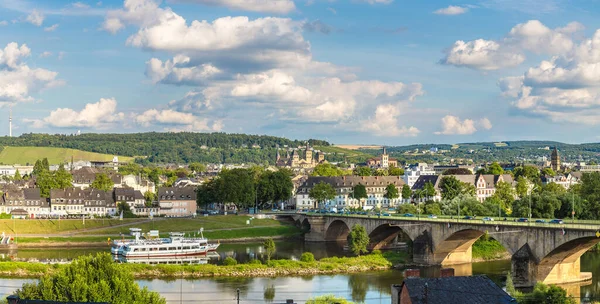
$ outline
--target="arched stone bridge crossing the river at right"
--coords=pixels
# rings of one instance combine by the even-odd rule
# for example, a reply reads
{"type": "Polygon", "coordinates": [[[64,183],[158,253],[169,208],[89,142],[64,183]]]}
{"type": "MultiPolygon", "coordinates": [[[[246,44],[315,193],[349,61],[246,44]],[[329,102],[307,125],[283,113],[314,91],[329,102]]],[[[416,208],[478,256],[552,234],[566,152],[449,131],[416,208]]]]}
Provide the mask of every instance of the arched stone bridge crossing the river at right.
{"type": "Polygon", "coordinates": [[[412,240],[413,261],[423,265],[453,265],[472,261],[472,245],[484,235],[496,239],[511,255],[515,286],[572,283],[591,279],[579,260],[600,242],[598,225],[536,225],[390,217],[346,217],[295,214],[310,242],[345,241],[352,226],[365,227],[371,248],[379,249],[403,232],[412,240]]]}

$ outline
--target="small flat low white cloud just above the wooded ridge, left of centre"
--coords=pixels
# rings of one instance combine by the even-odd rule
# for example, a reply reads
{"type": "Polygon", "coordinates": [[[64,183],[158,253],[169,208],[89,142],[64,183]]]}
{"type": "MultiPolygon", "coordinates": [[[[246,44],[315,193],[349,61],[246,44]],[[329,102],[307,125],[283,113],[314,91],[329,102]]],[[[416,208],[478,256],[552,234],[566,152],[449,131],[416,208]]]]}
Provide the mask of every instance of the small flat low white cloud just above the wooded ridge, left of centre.
{"type": "Polygon", "coordinates": [[[208,119],[199,118],[191,113],[183,113],[174,110],[150,109],[135,117],[135,122],[141,126],[162,125],[168,131],[220,131],[223,123],[220,120],[209,125],[208,119]]]}

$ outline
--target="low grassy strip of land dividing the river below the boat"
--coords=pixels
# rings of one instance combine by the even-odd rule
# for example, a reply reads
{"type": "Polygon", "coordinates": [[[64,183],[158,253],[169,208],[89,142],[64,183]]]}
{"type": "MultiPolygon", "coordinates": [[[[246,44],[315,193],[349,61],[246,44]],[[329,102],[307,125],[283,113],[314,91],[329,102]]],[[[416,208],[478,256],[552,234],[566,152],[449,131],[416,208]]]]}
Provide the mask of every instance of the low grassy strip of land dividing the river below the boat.
{"type": "MultiPolygon", "coordinates": [[[[405,253],[373,253],[359,257],[324,258],[319,261],[271,260],[237,265],[142,265],[122,264],[136,278],[267,277],[352,273],[390,269],[407,260],[405,253]]],[[[64,265],[27,262],[0,262],[0,276],[40,277],[52,274],[64,265]]]]}

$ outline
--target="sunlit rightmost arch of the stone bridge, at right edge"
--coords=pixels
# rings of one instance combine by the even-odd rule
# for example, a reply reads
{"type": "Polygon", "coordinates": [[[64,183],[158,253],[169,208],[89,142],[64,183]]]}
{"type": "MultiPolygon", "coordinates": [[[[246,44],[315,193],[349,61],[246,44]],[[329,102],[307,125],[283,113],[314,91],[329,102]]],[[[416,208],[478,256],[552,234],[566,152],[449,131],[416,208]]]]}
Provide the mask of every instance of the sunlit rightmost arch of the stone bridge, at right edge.
{"type": "Polygon", "coordinates": [[[581,256],[600,242],[598,237],[581,237],[554,248],[543,257],[537,267],[536,281],[544,284],[579,282],[591,278],[581,273],[581,256]]]}

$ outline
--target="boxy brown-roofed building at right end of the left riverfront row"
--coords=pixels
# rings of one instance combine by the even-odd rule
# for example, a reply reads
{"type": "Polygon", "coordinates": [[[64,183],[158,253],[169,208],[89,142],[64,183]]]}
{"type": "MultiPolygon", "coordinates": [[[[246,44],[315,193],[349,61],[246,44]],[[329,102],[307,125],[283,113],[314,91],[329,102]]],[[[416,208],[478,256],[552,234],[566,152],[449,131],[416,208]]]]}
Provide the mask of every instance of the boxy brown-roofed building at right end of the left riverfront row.
{"type": "Polygon", "coordinates": [[[165,187],[158,189],[161,215],[184,217],[196,214],[196,188],[165,187]]]}

